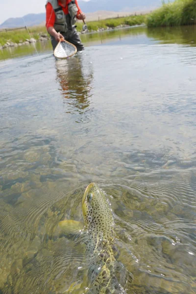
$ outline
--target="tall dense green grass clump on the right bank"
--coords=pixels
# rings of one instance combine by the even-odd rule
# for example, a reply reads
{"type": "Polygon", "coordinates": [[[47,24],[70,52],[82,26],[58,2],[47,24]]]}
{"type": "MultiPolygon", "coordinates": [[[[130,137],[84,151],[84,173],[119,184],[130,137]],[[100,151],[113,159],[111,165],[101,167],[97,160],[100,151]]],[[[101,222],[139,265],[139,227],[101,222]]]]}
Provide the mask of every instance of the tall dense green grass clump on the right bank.
{"type": "Polygon", "coordinates": [[[196,0],[165,3],[147,16],[148,27],[196,24],[196,0]]]}

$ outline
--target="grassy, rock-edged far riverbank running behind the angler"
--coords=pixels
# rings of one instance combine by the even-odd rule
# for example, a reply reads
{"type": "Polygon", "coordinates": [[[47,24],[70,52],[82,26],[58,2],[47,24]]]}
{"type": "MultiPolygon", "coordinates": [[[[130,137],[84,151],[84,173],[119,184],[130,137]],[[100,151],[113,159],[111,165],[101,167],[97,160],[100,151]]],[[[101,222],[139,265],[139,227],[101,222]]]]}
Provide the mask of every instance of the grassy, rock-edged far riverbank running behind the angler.
{"type": "MultiPolygon", "coordinates": [[[[110,30],[118,27],[126,27],[133,25],[142,25],[145,23],[146,15],[134,15],[129,17],[121,17],[115,19],[101,20],[97,22],[88,22],[87,32],[99,32],[110,30]]],[[[87,33],[82,31],[83,23],[78,22],[77,31],[79,33],[87,33]]],[[[45,26],[28,27],[18,30],[0,31],[0,49],[8,47],[19,47],[30,43],[43,42],[49,40],[49,34],[45,26]]]]}

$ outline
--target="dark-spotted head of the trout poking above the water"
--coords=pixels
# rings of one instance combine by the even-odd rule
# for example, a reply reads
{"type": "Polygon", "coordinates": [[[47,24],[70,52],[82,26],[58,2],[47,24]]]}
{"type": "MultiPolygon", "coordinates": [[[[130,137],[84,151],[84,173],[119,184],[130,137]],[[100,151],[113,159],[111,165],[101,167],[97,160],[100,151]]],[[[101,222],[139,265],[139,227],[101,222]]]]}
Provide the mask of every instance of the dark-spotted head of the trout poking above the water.
{"type": "Polygon", "coordinates": [[[112,211],[103,191],[97,184],[87,186],[82,199],[82,212],[85,225],[101,231],[113,225],[112,211]]]}

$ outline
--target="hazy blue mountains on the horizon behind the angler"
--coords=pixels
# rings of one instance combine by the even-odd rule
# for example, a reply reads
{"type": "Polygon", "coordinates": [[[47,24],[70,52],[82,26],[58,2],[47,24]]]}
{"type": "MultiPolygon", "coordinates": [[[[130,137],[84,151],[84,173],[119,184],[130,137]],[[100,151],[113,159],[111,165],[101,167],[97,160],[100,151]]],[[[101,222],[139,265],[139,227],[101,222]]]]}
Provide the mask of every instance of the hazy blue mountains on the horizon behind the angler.
{"type": "MultiPolygon", "coordinates": [[[[150,10],[161,5],[162,0],[79,0],[78,4],[85,13],[104,11],[141,11],[150,10]]],[[[40,25],[46,19],[45,13],[27,14],[23,18],[9,18],[0,25],[0,28],[40,25]]]]}

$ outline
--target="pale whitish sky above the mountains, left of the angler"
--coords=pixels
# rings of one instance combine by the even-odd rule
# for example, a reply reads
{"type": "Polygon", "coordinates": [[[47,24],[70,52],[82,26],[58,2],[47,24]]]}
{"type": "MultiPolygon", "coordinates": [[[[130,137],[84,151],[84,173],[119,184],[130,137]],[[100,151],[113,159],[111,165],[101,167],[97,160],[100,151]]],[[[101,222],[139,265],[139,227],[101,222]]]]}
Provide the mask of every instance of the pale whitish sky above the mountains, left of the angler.
{"type": "Polygon", "coordinates": [[[11,17],[45,12],[45,4],[46,0],[0,0],[0,24],[11,17]]]}

